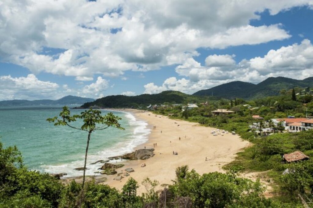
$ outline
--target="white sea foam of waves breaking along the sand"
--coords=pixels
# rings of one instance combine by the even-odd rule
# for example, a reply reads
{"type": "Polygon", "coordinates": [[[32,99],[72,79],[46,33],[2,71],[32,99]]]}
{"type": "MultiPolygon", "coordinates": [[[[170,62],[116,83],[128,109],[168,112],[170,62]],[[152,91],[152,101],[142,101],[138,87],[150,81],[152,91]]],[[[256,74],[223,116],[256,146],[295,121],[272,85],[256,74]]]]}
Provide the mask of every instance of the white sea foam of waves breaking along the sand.
{"type": "MultiPolygon", "coordinates": [[[[134,148],[138,145],[145,143],[148,140],[148,135],[151,132],[151,129],[147,128],[148,124],[145,121],[138,120],[131,113],[125,113],[126,119],[130,124],[130,127],[133,129],[131,134],[126,134],[125,141],[119,142],[115,144],[113,147],[104,148],[103,150],[97,152],[97,154],[88,155],[87,156],[87,169],[86,175],[98,175],[99,173],[94,173],[99,171],[98,169],[103,165],[102,163],[97,163],[94,165],[90,165],[98,160],[108,160],[109,157],[123,155],[126,153],[130,153],[134,151],[134,148]]],[[[47,173],[67,173],[67,175],[63,177],[74,177],[74,176],[82,176],[83,171],[74,170],[77,167],[84,166],[84,156],[82,153],[79,160],[61,164],[61,165],[41,165],[40,171],[47,173]]],[[[119,160],[110,160],[111,163],[120,162],[119,160]]]]}

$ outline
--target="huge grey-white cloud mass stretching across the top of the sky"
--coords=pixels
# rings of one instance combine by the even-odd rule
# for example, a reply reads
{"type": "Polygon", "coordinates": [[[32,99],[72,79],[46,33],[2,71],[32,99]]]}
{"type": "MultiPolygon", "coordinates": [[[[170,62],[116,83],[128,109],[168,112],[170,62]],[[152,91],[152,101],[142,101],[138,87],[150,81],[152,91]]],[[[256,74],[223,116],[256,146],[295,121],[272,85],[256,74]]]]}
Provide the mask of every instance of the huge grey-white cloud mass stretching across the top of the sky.
{"type": "Polygon", "coordinates": [[[126,70],[147,71],[183,64],[199,47],[226,48],[283,40],[280,24],[254,27],[251,19],[310,0],[227,1],[35,1],[0,4],[0,60],[32,73],[92,80],[126,70]],[[121,8],[118,10],[118,8],[121,8]],[[50,55],[46,48],[61,48],[50,55]]]}

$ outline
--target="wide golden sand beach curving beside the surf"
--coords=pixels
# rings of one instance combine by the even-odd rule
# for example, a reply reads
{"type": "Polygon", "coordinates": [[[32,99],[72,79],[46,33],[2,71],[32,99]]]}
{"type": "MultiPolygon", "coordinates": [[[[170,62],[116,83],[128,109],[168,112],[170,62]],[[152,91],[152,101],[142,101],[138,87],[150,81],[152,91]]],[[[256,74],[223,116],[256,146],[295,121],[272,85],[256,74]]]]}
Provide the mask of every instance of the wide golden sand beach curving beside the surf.
{"type": "Polygon", "coordinates": [[[147,160],[123,161],[124,167],[116,169],[118,173],[126,172],[126,168],[135,171],[124,176],[120,181],[113,180],[116,175],[103,175],[107,177],[108,184],[121,190],[128,178],[134,178],[140,185],[138,193],[145,189],[141,181],[145,178],[159,181],[158,189],[162,184],[172,184],[175,180],[175,169],[182,165],[188,165],[189,170],[195,169],[199,174],[208,172],[225,172],[222,166],[231,162],[235,154],[249,145],[248,141],[242,140],[238,135],[210,134],[214,128],[204,127],[198,123],[183,120],[169,119],[167,116],[155,115],[151,112],[129,110],[137,119],[145,120],[151,128],[149,140],[136,149],[153,148],[156,143],[155,156],[147,160]],[[156,129],[153,129],[156,126],[156,129]],[[161,133],[162,131],[162,133],[161,133]],[[179,141],[179,137],[181,140],[179,141]],[[173,151],[178,155],[173,155],[173,151]],[[208,161],[205,158],[208,158],[208,161]],[[141,167],[142,164],[145,167],[141,167]]]}

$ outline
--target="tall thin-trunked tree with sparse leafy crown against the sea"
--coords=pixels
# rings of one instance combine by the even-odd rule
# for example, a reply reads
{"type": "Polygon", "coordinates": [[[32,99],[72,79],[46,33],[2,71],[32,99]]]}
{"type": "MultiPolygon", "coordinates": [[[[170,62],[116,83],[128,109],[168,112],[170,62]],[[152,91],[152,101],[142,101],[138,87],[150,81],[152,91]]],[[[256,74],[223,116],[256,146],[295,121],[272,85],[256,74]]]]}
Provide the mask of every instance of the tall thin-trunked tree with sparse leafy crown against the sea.
{"type": "Polygon", "coordinates": [[[67,106],[63,107],[63,111],[59,114],[59,117],[55,116],[54,118],[48,118],[47,119],[47,121],[49,121],[50,123],[51,122],[54,123],[55,126],[58,126],[58,125],[65,126],[66,125],[66,126],[69,126],[73,129],[78,129],[78,130],[88,132],[82,187],[84,187],[84,184],[85,184],[87,153],[88,153],[88,147],[89,147],[89,141],[90,141],[91,133],[94,132],[95,130],[104,130],[104,129],[107,129],[109,127],[115,127],[117,129],[124,129],[118,123],[119,120],[121,120],[121,118],[118,116],[115,116],[113,113],[108,113],[105,116],[102,116],[100,110],[94,110],[91,108],[88,110],[85,110],[85,112],[81,112],[80,115],[71,116],[69,108],[67,106]],[[77,121],[77,119],[83,120],[83,125],[80,128],[77,128],[77,127],[69,124],[71,122],[77,121]]]}

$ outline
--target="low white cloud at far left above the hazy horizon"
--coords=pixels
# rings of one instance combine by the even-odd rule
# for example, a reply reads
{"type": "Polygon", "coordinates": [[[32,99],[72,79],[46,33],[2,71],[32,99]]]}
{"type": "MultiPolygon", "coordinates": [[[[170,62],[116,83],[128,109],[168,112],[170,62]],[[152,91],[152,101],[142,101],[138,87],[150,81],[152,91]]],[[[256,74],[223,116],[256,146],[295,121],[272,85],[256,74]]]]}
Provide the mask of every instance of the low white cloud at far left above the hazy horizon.
{"type": "Polygon", "coordinates": [[[0,100],[51,99],[57,96],[59,85],[38,80],[34,74],[27,77],[0,76],[0,100]]]}

